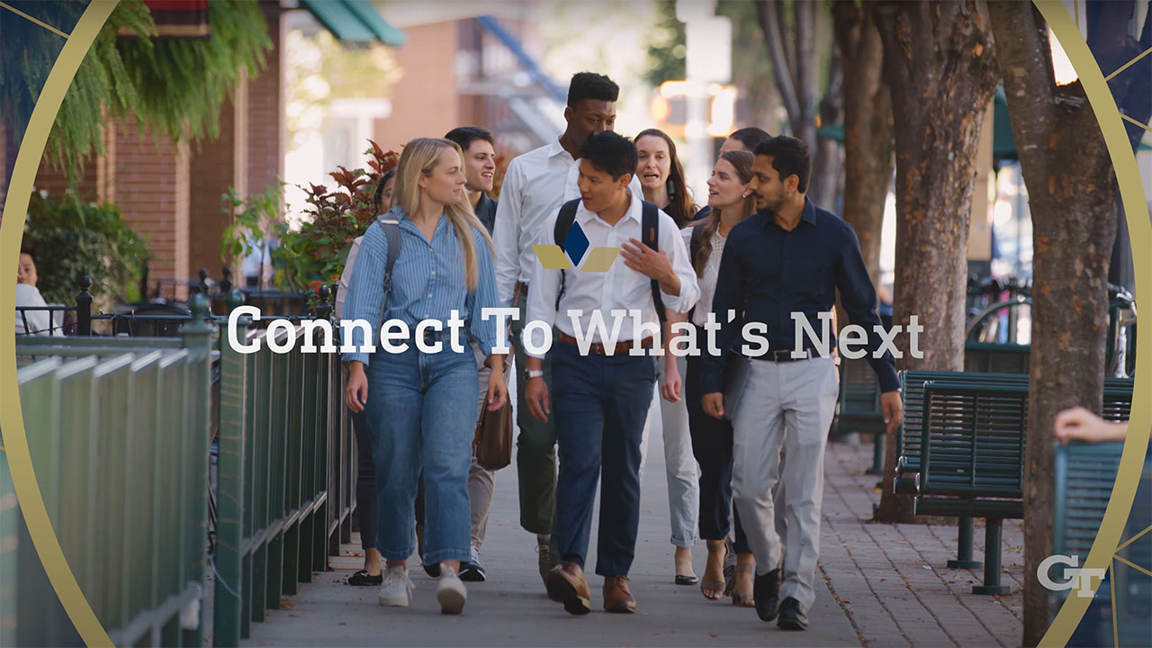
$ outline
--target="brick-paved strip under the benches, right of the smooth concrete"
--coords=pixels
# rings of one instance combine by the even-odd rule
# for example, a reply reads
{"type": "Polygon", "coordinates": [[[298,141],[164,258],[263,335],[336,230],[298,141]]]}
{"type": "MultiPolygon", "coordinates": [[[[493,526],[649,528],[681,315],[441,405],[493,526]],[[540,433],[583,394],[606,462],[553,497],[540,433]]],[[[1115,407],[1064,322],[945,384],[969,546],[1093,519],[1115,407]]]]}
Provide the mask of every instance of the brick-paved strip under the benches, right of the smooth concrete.
{"type": "MultiPolygon", "coordinates": [[[[956,527],[869,523],[880,503],[871,445],[828,444],[820,568],[861,642],[873,646],[1020,646],[1023,638],[1024,532],[1003,521],[1001,580],[1011,596],[978,596],[982,570],[949,570],[956,527]]],[[[976,521],[973,556],[984,557],[976,521]]]]}

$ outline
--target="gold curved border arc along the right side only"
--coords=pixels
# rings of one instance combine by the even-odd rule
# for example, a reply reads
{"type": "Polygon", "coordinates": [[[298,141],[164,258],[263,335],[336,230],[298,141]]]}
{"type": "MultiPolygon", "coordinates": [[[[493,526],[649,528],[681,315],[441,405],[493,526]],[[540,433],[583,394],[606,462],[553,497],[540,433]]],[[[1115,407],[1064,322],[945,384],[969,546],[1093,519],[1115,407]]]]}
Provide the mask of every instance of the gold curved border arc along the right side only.
{"type": "MultiPolygon", "coordinates": [[[[1120,197],[1128,217],[1128,232],[1132,250],[1152,249],[1152,224],[1149,223],[1147,202],[1144,187],[1140,184],[1136,156],[1132,155],[1128,131],[1120,119],[1120,110],[1104,80],[1104,73],[1076,28],[1076,23],[1073,22],[1073,17],[1068,15],[1068,9],[1062,3],[1058,0],[1033,0],[1033,3],[1060,40],[1061,47],[1063,47],[1081,84],[1084,86],[1084,95],[1096,113],[1097,121],[1100,123],[1100,133],[1104,135],[1105,145],[1116,173],[1116,182],[1120,184],[1120,197]]],[[[1137,286],[1152,287],[1152,262],[1146,255],[1134,254],[1132,264],[1136,269],[1137,286]]],[[[1149,332],[1137,331],[1137,339],[1149,338],[1149,332]]],[[[1144,346],[1150,346],[1150,340],[1145,340],[1144,346]]],[[[1142,368],[1149,364],[1147,361],[1137,361],[1137,363],[1142,368]]],[[[1120,470],[1116,473],[1116,483],[1113,487],[1104,520],[1100,522],[1100,530],[1084,560],[1084,568],[1111,570],[1112,557],[1116,551],[1116,545],[1120,544],[1120,536],[1124,532],[1128,515],[1131,513],[1149,444],[1149,435],[1152,432],[1152,409],[1149,405],[1150,395],[1152,395],[1152,383],[1150,383],[1152,378],[1144,374],[1147,374],[1147,370],[1137,372],[1132,390],[1132,412],[1128,421],[1128,440],[1124,442],[1120,470]]],[[[1024,574],[1024,578],[1036,578],[1036,575],[1024,574]]],[[[1067,645],[1092,600],[1079,596],[1067,597],[1039,645],[1041,647],[1067,645]]]]}

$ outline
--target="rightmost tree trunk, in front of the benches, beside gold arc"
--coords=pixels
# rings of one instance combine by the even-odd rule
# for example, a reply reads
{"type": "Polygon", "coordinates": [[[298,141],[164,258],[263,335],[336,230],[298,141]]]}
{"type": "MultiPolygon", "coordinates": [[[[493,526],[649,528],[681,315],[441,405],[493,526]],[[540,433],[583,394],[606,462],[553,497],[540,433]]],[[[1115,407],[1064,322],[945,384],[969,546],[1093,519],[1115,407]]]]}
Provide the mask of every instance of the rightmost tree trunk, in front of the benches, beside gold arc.
{"type": "MultiPolygon", "coordinates": [[[[1047,29],[1031,5],[992,2],[1013,137],[1032,213],[1032,354],[1024,465],[1024,573],[1052,553],[1052,427],[1100,410],[1115,171],[1079,82],[1055,85],[1047,29]]],[[[1104,60],[1101,52],[1096,52],[1104,60]]],[[[1048,628],[1049,593],[1024,579],[1024,646],[1048,628]]]]}

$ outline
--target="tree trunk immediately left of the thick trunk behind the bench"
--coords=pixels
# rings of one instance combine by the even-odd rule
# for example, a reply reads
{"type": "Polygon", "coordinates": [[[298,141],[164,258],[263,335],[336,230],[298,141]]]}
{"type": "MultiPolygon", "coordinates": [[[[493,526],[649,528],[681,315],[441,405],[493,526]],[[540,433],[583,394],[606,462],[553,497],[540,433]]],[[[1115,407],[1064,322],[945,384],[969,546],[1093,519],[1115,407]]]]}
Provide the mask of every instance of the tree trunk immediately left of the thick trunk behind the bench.
{"type": "Polygon", "coordinates": [[[884,44],[869,12],[838,0],[832,22],[843,69],[844,220],[856,229],[872,281],[880,279],[880,229],[892,181],[892,99],[881,78],[884,44]]]}

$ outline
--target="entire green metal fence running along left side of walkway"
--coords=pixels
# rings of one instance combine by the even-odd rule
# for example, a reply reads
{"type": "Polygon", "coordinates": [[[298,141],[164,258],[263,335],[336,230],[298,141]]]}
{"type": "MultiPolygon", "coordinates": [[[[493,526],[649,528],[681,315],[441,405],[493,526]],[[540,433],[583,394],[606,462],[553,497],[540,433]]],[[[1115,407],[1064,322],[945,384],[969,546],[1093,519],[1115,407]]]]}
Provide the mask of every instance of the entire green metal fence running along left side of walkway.
{"type": "MultiPolygon", "coordinates": [[[[318,311],[325,319],[331,309],[318,311]]],[[[213,322],[228,332],[197,297],[177,338],[17,341],[37,482],[69,566],[118,646],[203,646],[210,619],[213,645],[236,646],[350,536],[354,435],[339,355],[302,353],[300,319],[272,336],[295,340],[283,354],[271,352],[267,330],[242,321],[240,339],[263,346],[248,355],[213,322]]],[[[43,570],[37,578],[24,568],[39,560],[0,464],[0,646],[69,643],[43,570]]]]}

